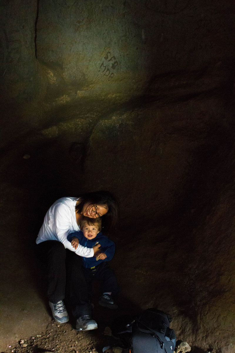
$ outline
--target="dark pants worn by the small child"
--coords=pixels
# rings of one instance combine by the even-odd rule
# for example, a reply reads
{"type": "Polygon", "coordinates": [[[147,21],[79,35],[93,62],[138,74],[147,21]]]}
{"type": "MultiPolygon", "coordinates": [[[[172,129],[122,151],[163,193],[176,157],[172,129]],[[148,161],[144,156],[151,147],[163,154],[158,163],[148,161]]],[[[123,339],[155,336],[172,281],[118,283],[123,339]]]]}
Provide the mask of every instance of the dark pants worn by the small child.
{"type": "Polygon", "coordinates": [[[116,276],[106,262],[101,262],[93,269],[82,267],[82,271],[87,282],[89,300],[92,299],[93,280],[101,281],[102,293],[112,292],[112,294],[117,294],[119,292],[116,276]]]}

